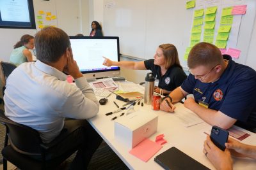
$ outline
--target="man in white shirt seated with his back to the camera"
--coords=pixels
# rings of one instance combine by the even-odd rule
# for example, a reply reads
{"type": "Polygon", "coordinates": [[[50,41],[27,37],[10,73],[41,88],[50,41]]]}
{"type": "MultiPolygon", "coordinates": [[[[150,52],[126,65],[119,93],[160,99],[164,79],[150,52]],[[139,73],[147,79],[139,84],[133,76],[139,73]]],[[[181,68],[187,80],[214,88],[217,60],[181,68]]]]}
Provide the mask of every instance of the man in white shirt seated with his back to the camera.
{"type": "Polygon", "coordinates": [[[64,31],[45,27],[36,33],[35,46],[36,62],[20,64],[8,77],[4,91],[5,115],[38,131],[44,143],[51,142],[66,129],[62,132],[70,134],[48,156],[58,157],[77,148],[71,169],[86,169],[102,142],[85,120],[97,115],[97,98],[73,59],[70,40],[64,31]],[[76,86],[66,81],[63,71],[74,78],[76,86]]]}

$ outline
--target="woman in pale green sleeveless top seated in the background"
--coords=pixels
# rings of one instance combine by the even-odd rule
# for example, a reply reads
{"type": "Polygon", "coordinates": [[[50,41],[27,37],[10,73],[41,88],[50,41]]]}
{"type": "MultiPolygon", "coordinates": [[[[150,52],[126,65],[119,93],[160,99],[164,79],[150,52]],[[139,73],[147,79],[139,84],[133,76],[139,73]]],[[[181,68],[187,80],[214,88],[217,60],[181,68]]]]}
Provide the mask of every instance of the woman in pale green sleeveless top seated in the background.
{"type": "Polygon", "coordinates": [[[34,48],[34,37],[28,34],[22,36],[14,46],[10,55],[10,62],[19,66],[23,62],[32,62],[32,53],[29,50],[34,48]]]}

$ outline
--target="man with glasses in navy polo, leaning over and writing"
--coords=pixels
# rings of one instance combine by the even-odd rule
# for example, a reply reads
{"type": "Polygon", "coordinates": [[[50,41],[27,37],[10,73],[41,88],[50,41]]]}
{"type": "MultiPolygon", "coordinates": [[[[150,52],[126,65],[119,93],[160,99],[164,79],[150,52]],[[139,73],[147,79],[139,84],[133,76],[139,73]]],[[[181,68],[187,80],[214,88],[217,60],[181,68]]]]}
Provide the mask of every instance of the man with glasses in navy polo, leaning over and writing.
{"type": "MultiPolygon", "coordinates": [[[[198,43],[188,56],[190,74],[180,87],[168,97],[170,103],[177,103],[188,94],[184,106],[195,112],[211,125],[223,129],[235,122],[256,127],[250,117],[256,111],[256,71],[237,64],[229,55],[210,43],[198,43]]],[[[173,112],[175,106],[161,103],[161,110],[173,112]]]]}

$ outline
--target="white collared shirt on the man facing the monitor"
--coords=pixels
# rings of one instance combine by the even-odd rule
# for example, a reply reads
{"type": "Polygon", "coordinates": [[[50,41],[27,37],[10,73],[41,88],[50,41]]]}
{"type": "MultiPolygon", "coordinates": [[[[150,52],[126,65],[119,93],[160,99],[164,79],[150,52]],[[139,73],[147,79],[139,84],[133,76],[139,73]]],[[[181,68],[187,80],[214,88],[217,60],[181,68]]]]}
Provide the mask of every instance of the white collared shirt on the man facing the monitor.
{"type": "Polygon", "coordinates": [[[6,117],[40,132],[44,143],[56,138],[64,119],[86,119],[97,115],[99,102],[85,77],[76,86],[67,76],[40,60],[20,64],[6,81],[6,117]]]}

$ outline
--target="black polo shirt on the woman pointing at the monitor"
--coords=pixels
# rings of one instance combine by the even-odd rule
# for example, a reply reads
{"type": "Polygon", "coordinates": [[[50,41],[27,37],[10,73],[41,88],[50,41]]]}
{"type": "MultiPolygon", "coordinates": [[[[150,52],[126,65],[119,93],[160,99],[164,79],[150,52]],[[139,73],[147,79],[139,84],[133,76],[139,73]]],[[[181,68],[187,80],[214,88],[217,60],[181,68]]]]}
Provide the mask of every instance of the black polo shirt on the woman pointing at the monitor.
{"type": "Polygon", "coordinates": [[[154,59],[145,60],[145,67],[150,69],[156,79],[159,80],[158,87],[168,91],[172,91],[179,87],[187,78],[183,69],[179,66],[170,67],[166,73],[161,76],[161,67],[154,64],[154,59]]]}

